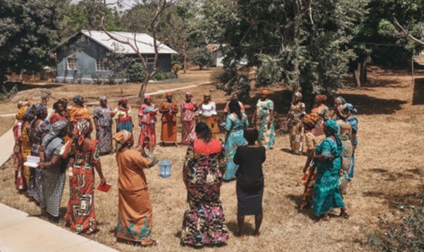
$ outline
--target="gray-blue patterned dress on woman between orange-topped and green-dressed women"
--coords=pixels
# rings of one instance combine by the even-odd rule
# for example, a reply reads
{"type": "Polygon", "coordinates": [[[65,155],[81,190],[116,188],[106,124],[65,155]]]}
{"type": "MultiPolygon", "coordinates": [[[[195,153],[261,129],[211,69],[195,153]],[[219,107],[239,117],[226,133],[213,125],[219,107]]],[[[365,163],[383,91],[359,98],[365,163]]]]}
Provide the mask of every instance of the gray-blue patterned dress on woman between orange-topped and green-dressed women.
{"type": "Polygon", "coordinates": [[[96,139],[98,140],[98,151],[100,154],[112,152],[112,124],[111,117],[112,108],[108,107],[95,107],[93,111],[93,118],[97,119],[98,131],[96,132],[96,139]]]}

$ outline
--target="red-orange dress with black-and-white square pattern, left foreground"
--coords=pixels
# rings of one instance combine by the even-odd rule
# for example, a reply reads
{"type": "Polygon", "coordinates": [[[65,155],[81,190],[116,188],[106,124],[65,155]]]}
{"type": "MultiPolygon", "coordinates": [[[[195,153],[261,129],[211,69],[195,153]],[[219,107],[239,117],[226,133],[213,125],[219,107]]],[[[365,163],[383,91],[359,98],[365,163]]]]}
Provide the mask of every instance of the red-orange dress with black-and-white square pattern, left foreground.
{"type": "Polygon", "coordinates": [[[70,196],[65,221],[77,233],[90,234],[98,230],[94,211],[94,166],[100,163],[97,140],[91,140],[87,152],[67,143],[62,158],[68,159],[73,155],[75,162],[69,173],[70,196]]]}

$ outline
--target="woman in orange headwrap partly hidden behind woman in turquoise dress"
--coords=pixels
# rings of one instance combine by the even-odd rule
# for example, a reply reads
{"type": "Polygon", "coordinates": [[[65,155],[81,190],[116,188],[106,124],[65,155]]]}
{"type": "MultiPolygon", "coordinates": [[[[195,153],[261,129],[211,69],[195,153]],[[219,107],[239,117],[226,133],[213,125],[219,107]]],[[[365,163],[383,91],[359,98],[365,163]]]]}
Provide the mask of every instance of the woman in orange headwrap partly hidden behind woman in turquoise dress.
{"type": "Polygon", "coordinates": [[[303,192],[302,203],[299,208],[302,209],[312,203],[313,188],[315,185],[316,168],[312,161],[313,155],[315,154],[315,147],[319,145],[326,136],[324,135],[321,124],[319,123],[320,117],[315,114],[307,114],[303,117],[302,122],[305,128],[305,139],[308,157],[306,159],[305,166],[303,168],[303,178],[300,184],[305,186],[303,192]]]}

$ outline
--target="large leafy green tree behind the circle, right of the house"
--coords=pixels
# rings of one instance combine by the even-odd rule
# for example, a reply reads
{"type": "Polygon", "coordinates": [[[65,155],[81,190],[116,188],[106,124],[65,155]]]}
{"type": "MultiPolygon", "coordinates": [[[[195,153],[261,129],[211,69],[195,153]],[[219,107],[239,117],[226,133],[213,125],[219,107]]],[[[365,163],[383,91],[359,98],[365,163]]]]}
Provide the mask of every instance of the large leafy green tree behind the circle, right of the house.
{"type": "Polygon", "coordinates": [[[230,48],[224,70],[241,58],[260,68],[266,54],[281,62],[282,80],[308,98],[341,86],[355,57],[347,45],[367,2],[211,0],[203,23],[212,41],[230,48]]]}

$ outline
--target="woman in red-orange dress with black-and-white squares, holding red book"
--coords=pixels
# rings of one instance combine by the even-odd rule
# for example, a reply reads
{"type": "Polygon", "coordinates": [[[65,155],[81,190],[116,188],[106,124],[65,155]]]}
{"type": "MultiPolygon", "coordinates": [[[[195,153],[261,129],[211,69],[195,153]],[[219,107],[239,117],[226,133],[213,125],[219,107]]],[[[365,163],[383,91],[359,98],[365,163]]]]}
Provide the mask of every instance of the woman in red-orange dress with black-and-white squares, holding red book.
{"type": "Polygon", "coordinates": [[[100,184],[106,184],[101,171],[97,140],[91,140],[93,127],[89,120],[80,119],[75,124],[72,141],[65,145],[62,158],[69,159],[70,197],[66,224],[77,233],[90,234],[98,230],[94,211],[94,169],[100,184]],[[71,168],[72,167],[72,168],[71,168]]]}

